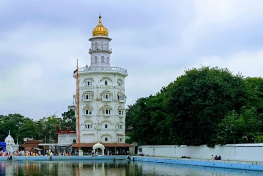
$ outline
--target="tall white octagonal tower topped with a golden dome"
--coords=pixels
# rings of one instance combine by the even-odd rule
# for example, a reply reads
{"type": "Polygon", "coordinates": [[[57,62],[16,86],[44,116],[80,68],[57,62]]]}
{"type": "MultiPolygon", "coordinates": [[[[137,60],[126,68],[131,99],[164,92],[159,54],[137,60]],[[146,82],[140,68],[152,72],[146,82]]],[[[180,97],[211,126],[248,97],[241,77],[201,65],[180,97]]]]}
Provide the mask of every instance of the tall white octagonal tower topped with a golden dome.
{"type": "MultiPolygon", "coordinates": [[[[79,68],[80,143],[124,143],[124,79],[128,73],[126,69],[110,66],[111,39],[101,16],[92,34],[89,39],[91,65],[79,68]]],[[[73,77],[76,79],[76,71],[73,77]]],[[[77,107],[76,98],[75,102],[77,107]]],[[[77,117],[77,111],[75,115],[77,117]]]]}

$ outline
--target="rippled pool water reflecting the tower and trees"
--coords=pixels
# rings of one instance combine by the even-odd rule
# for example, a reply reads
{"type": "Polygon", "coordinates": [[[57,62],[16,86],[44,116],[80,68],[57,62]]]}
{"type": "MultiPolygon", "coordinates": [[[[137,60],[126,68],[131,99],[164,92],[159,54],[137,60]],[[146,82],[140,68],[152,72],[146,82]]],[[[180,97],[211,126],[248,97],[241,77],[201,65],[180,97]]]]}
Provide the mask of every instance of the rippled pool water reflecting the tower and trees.
{"type": "Polygon", "coordinates": [[[0,175],[246,176],[263,172],[127,161],[0,161],[0,175]]]}

